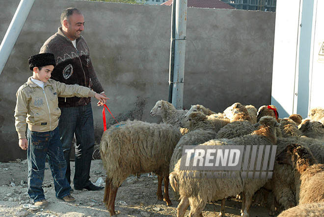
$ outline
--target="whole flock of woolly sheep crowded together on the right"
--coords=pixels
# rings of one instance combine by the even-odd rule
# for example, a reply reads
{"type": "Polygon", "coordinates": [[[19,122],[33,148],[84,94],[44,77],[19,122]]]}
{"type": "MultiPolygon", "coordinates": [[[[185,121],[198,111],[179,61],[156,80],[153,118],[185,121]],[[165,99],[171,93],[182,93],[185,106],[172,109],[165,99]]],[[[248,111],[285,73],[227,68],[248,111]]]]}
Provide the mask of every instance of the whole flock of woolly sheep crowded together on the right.
{"type": "Polygon", "coordinates": [[[177,217],[184,217],[189,207],[189,217],[203,217],[206,204],[218,200],[224,217],[225,201],[235,197],[242,201],[243,217],[268,200],[269,216],[324,216],[323,108],[310,109],[306,119],[299,114],[279,118],[274,105],[256,109],[236,102],[213,111],[196,104],[178,110],[159,100],[150,115],[161,116],[162,123],[128,120],[111,125],[102,136],[100,154],[107,171],[103,201],[110,216],[116,215],[115,198],[124,180],[149,172],[157,174],[157,196],[167,206],[172,205],[170,183],[179,200],[177,217]],[[232,151],[236,155],[227,155],[229,159],[222,154],[232,151]],[[210,160],[203,161],[205,153],[210,160]],[[242,165],[211,172],[223,162],[234,165],[231,156],[242,156],[242,165]]]}

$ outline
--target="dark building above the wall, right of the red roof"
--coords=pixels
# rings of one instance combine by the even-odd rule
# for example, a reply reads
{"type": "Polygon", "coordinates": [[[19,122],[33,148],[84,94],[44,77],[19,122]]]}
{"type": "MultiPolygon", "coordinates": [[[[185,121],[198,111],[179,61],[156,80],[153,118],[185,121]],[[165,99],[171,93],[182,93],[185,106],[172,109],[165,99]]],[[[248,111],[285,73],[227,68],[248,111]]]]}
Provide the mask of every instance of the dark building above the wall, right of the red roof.
{"type": "Polygon", "coordinates": [[[261,10],[275,12],[277,0],[221,0],[240,10],[261,10]]]}

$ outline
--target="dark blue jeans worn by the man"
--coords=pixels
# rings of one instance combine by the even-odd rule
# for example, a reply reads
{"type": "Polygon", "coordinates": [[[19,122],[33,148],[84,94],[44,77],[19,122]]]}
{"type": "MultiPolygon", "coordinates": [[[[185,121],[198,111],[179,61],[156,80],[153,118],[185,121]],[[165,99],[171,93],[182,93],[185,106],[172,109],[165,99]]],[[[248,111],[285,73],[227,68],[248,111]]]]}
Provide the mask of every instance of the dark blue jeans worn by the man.
{"type": "Polygon", "coordinates": [[[74,134],[76,136],[74,187],[91,184],[90,165],[94,147],[94,128],[91,104],[75,107],[60,107],[59,131],[67,163],[66,177],[71,183],[70,152],[74,134]]]}

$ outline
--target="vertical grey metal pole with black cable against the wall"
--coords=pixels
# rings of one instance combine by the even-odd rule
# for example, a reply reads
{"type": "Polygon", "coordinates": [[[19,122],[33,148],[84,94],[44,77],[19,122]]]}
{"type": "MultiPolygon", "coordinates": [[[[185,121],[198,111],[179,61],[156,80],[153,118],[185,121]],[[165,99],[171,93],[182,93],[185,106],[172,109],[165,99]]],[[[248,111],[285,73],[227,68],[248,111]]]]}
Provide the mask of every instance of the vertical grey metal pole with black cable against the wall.
{"type": "MultiPolygon", "coordinates": [[[[175,4],[175,32],[174,32],[174,66],[172,81],[172,104],[176,109],[183,108],[187,0],[177,0],[175,4]]],[[[172,54],[171,54],[172,55],[172,54]]]]}

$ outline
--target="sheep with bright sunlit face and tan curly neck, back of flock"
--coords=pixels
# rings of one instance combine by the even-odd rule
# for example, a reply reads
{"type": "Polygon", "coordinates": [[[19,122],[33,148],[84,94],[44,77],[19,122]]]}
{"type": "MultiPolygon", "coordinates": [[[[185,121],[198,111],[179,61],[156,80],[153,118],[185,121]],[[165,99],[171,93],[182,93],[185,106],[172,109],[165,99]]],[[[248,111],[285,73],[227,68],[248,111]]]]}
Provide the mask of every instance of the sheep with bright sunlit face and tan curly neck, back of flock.
{"type": "Polygon", "coordinates": [[[233,105],[226,108],[223,112],[223,115],[225,118],[228,118],[231,122],[235,121],[249,121],[252,124],[256,124],[251,119],[250,114],[248,113],[245,106],[243,106],[241,103],[236,102],[233,105]]]}

